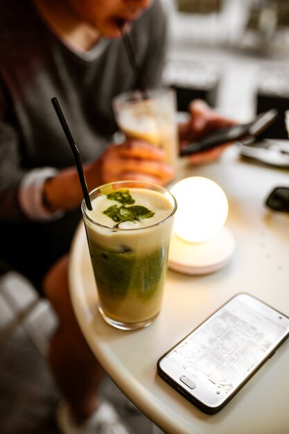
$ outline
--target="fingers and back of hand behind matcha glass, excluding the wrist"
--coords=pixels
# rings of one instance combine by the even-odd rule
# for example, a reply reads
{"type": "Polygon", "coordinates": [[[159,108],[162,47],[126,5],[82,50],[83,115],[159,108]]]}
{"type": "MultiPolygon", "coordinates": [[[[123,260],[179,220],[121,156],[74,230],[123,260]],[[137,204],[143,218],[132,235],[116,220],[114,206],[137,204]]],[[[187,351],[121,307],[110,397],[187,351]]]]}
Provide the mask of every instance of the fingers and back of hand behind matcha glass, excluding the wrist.
{"type": "Polygon", "coordinates": [[[145,141],[110,144],[100,157],[102,181],[137,180],[164,185],[175,175],[164,159],[163,150],[145,141]]]}

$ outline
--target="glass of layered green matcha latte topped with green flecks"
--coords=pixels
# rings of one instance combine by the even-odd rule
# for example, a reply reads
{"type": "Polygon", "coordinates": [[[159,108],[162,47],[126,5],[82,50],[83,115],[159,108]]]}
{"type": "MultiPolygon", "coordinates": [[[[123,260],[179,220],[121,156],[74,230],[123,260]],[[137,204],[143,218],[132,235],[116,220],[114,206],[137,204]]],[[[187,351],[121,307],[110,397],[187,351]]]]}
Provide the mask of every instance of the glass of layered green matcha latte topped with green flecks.
{"type": "Polygon", "coordinates": [[[105,184],[82,201],[98,309],[110,325],[148,326],[161,309],[175,198],[144,182],[105,184]]]}

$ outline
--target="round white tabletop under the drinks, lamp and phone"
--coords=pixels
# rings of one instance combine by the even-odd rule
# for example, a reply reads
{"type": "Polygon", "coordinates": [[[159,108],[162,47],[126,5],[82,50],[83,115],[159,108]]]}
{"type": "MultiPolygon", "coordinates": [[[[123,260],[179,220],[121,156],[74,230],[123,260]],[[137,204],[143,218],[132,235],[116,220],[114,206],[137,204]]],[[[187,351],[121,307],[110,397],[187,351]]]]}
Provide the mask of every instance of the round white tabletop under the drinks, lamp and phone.
{"type": "Polygon", "coordinates": [[[289,215],[265,208],[288,171],[245,162],[229,148],[213,164],[179,164],[177,179],[202,175],[229,200],[227,227],[236,238],[229,265],[206,276],[168,271],[161,313],[150,327],[121,331],[97,310],[85,229],[73,240],[69,282],[82,332],[107,374],[152,422],[170,434],[289,432],[289,340],[216,415],[205,415],[157,375],[158,358],[234,294],[248,292],[289,315],[289,215]]]}

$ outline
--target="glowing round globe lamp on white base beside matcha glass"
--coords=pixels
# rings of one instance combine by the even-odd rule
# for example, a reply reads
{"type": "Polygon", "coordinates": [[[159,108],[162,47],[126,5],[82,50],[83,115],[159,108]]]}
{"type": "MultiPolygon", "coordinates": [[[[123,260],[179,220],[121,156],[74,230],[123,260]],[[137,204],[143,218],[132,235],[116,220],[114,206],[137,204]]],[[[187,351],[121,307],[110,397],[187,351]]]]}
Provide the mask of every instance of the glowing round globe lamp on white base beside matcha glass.
{"type": "Polygon", "coordinates": [[[225,266],[235,242],[224,226],[229,209],[224,191],[216,182],[200,176],[185,178],[170,191],[177,200],[170,268],[202,275],[225,266]]]}

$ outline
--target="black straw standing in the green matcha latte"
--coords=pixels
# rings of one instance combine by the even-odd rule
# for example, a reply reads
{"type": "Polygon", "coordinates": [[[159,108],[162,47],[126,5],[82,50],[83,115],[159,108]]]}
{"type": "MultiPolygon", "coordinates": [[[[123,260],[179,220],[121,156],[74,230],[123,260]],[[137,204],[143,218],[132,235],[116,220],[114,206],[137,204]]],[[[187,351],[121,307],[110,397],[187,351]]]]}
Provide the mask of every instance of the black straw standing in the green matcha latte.
{"type": "Polygon", "coordinates": [[[85,180],[85,174],[83,173],[83,168],[82,168],[82,164],[81,164],[81,161],[80,161],[79,150],[78,150],[78,148],[76,146],[75,141],[73,140],[72,134],[71,134],[71,132],[69,130],[69,126],[67,125],[67,121],[64,118],[64,114],[62,113],[62,110],[61,110],[60,105],[58,103],[58,98],[55,98],[55,97],[52,98],[51,99],[51,103],[53,104],[53,107],[55,109],[56,114],[58,115],[58,119],[59,119],[59,121],[61,123],[62,129],[64,131],[64,134],[67,137],[67,141],[69,142],[69,145],[70,145],[71,150],[73,152],[74,158],[76,160],[76,168],[77,168],[77,171],[78,171],[78,177],[79,177],[79,180],[80,180],[80,184],[81,184],[81,188],[82,188],[82,193],[83,193],[83,196],[85,198],[85,204],[87,205],[87,208],[91,210],[92,209],[92,207],[91,207],[91,201],[90,201],[90,198],[89,198],[89,192],[88,192],[88,189],[87,189],[87,182],[85,180]]]}

